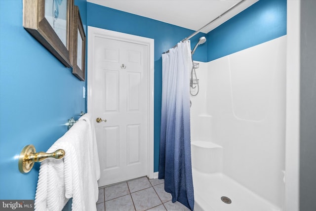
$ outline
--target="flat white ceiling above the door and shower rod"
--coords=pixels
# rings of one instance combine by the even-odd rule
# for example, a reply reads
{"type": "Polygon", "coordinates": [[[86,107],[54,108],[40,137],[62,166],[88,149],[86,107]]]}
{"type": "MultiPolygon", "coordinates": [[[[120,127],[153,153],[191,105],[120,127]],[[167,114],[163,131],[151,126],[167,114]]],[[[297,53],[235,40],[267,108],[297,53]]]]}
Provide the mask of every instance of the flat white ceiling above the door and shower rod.
{"type": "MultiPolygon", "coordinates": [[[[197,31],[240,0],[87,0],[124,12],[197,31]]],[[[258,0],[243,0],[201,32],[208,33],[258,0]]]]}

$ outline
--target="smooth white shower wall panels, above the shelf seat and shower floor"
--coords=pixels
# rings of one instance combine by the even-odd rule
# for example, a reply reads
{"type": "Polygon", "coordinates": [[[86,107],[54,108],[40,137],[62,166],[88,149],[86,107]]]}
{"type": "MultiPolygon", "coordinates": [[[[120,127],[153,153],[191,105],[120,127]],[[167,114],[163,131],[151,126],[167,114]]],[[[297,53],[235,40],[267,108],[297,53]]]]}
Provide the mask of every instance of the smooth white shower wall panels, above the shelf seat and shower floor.
{"type": "Polygon", "coordinates": [[[223,173],[279,208],[285,165],[286,36],[201,63],[192,140],[223,147],[223,173]],[[202,106],[201,106],[202,105],[202,106]]]}

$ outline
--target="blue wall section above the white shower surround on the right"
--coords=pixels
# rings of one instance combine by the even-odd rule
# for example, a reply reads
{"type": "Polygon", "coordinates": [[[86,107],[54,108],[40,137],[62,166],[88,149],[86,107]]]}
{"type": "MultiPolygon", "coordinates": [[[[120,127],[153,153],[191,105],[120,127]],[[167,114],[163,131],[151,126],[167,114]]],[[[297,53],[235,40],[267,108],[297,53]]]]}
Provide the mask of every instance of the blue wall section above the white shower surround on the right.
{"type": "Polygon", "coordinates": [[[207,34],[207,61],[286,35],[286,0],[259,0],[207,34]]]}

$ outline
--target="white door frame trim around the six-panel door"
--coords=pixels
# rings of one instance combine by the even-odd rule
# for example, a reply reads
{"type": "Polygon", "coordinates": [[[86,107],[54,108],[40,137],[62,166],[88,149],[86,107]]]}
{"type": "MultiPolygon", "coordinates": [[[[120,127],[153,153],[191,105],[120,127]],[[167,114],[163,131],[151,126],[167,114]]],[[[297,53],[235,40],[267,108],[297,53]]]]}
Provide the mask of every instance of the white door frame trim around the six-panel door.
{"type": "Polygon", "coordinates": [[[148,120],[147,127],[147,176],[154,178],[154,39],[144,38],[140,36],[125,34],[121,32],[111,31],[107,29],[96,28],[88,26],[88,54],[87,54],[87,112],[93,114],[93,59],[94,55],[94,40],[95,37],[101,37],[106,39],[113,39],[123,42],[133,42],[148,46],[148,120]]]}

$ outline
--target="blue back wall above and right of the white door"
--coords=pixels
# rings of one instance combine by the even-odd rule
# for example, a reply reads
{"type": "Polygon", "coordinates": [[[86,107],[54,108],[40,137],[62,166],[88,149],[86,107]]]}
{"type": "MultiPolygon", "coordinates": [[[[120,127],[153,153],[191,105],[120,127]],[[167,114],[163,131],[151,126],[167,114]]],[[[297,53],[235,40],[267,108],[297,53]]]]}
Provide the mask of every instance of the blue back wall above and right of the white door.
{"type": "MultiPolygon", "coordinates": [[[[89,2],[87,3],[87,25],[155,39],[154,170],[158,171],[162,80],[161,53],[174,46],[177,42],[180,42],[184,38],[188,37],[194,31],[89,2]]],[[[197,43],[198,38],[201,36],[206,35],[200,33],[191,40],[192,48],[197,43]]],[[[199,61],[206,60],[205,47],[206,45],[200,45],[197,48],[194,59],[199,61]]]]}

